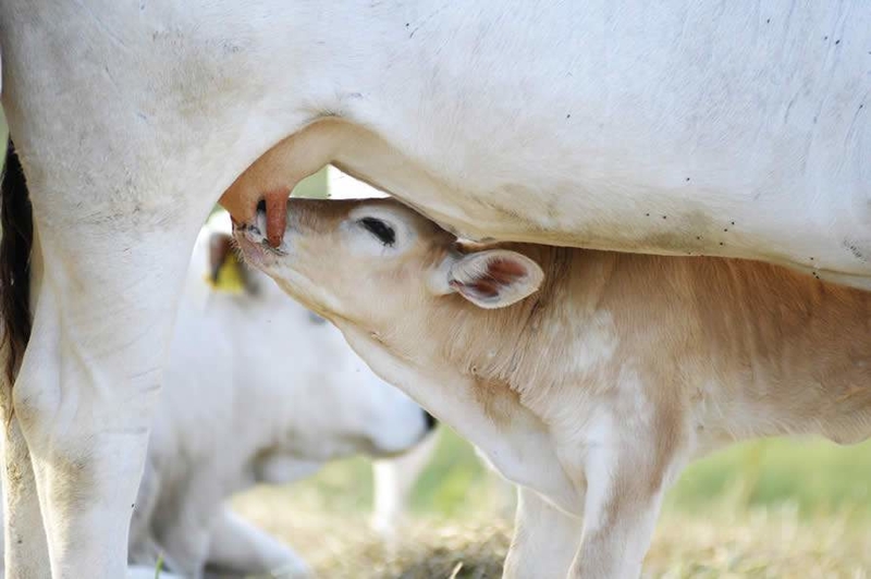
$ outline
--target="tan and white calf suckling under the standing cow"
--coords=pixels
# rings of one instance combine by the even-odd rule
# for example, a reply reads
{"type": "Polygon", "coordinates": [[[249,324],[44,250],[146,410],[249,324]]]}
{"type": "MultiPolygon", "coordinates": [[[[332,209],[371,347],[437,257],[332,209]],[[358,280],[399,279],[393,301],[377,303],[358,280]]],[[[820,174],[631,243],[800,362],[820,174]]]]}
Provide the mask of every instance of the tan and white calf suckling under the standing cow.
{"type": "Polygon", "coordinates": [[[519,485],[508,577],[635,577],[668,485],[729,442],[871,435],[871,294],[771,264],[468,245],[393,200],[235,236],[519,485]],[[329,263],[329,267],[324,267],[329,263]]]}

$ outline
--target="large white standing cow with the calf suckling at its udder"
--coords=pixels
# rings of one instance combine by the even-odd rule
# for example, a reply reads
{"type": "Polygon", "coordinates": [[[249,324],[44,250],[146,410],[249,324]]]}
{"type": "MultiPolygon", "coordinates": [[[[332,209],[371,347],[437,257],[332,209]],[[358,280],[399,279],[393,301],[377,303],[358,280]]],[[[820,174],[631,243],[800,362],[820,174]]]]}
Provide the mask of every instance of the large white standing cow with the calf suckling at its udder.
{"type": "Polygon", "coordinates": [[[223,192],[240,222],[266,200],[273,245],[289,188],[333,162],[465,237],[869,287],[869,45],[862,0],[3,0],[35,227],[30,250],[10,157],[10,568],[122,574],[187,249],[223,192]]]}

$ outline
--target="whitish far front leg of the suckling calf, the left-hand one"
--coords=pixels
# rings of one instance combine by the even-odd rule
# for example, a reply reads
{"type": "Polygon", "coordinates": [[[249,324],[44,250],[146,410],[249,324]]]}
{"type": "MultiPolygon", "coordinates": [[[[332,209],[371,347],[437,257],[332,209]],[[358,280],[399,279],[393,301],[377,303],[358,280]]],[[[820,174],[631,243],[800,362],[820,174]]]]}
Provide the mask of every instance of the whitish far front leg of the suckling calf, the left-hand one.
{"type": "Polygon", "coordinates": [[[580,544],[581,519],[567,515],[536,492],[518,486],[514,538],[504,577],[563,579],[580,544]]]}

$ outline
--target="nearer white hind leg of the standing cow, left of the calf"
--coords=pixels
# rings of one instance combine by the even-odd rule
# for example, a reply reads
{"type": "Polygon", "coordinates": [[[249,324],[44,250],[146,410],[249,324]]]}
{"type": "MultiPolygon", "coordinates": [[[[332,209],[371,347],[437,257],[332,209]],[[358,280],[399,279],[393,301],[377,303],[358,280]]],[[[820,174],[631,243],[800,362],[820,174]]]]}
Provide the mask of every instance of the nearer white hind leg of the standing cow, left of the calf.
{"type": "Polygon", "coordinates": [[[125,574],[131,514],[187,262],[180,249],[193,245],[196,221],[172,226],[165,220],[158,231],[143,231],[139,222],[137,231],[124,215],[75,229],[37,219],[45,268],[12,401],[56,578],[125,574]]]}

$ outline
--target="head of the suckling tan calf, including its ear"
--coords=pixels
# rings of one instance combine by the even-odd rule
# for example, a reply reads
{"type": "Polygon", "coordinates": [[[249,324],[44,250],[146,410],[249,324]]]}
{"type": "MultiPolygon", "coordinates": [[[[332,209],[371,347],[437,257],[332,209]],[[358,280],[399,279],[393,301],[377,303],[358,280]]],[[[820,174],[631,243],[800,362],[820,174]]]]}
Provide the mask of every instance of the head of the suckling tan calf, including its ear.
{"type": "Polygon", "coordinates": [[[446,300],[453,308],[510,306],[544,278],[529,257],[459,244],[393,199],[291,199],[283,243],[271,247],[265,233],[262,212],[234,233],[250,263],[312,310],[378,333],[446,300]]]}

